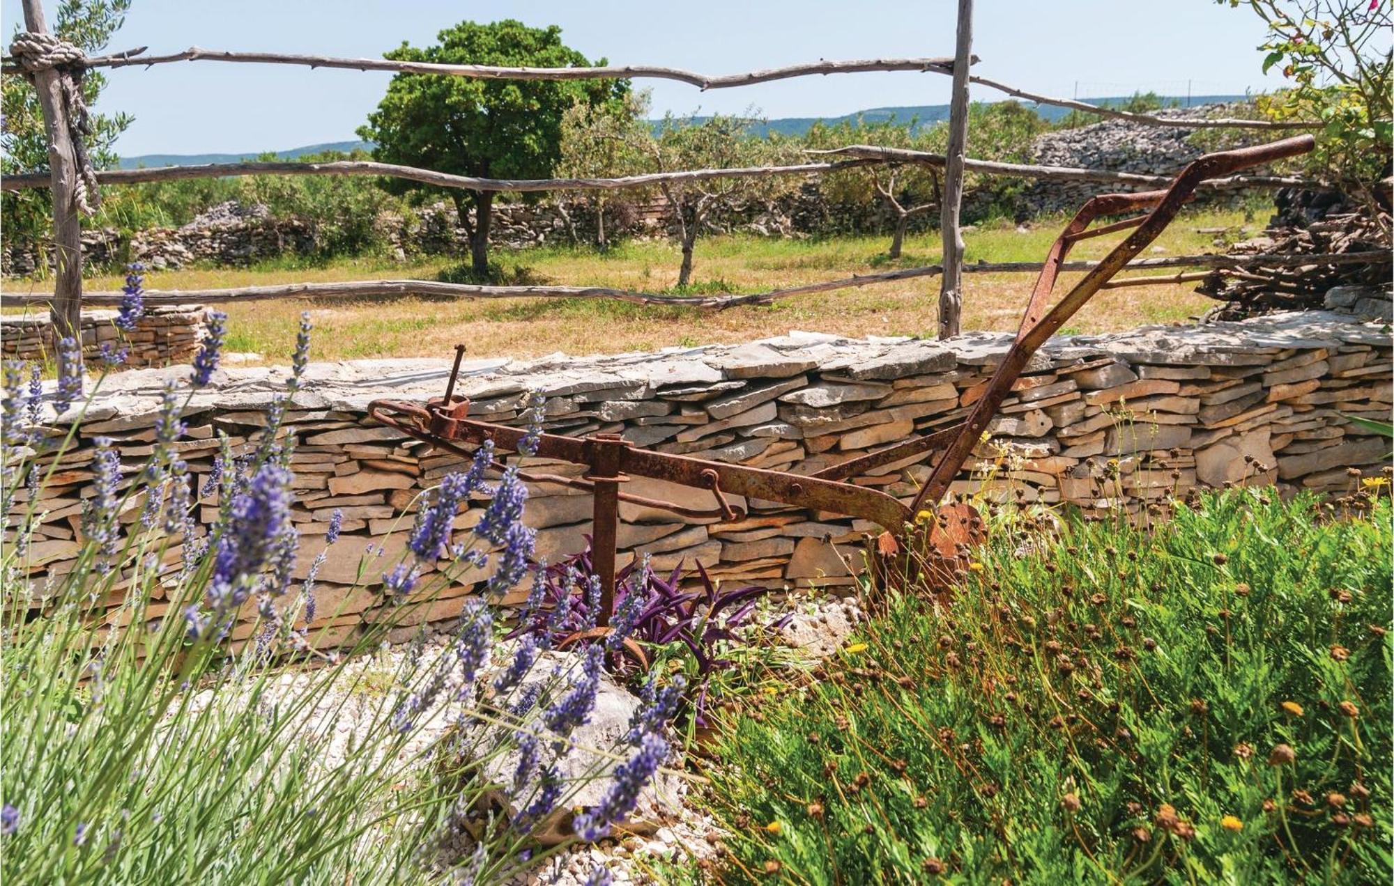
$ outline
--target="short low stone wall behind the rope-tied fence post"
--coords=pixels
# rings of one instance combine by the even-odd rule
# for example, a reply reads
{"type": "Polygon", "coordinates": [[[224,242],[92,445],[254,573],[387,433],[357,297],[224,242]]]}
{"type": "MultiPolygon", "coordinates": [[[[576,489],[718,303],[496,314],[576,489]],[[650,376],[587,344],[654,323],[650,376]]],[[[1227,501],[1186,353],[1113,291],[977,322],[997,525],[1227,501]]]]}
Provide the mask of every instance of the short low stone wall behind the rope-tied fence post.
{"type": "MultiPolygon", "coordinates": [[[[102,345],[127,348],[124,366],[167,366],[185,362],[204,337],[204,305],[153,305],[135,329],[124,333],[113,323],[116,311],[82,312],[82,354],[95,361],[102,345]]],[[[0,354],[6,359],[52,359],[53,326],[46,313],[0,316],[0,354]]]]}

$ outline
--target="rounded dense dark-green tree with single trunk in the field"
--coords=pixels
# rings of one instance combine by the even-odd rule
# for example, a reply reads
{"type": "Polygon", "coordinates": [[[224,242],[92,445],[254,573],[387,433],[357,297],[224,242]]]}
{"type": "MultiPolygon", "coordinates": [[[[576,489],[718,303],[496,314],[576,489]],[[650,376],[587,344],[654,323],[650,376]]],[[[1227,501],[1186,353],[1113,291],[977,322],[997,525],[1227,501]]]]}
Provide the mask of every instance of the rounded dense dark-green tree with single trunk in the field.
{"type": "MultiPolygon", "coordinates": [[[[442,31],[436,39],[438,46],[417,49],[403,43],[385,56],[438,64],[549,68],[591,64],[562,43],[562,29],[555,25],[528,28],[513,20],[487,25],[466,21],[442,31]]],[[[627,92],[627,81],[514,81],[397,74],[358,135],[376,143],[374,156],[385,163],[459,176],[546,178],[560,160],[562,116],[566,110],[576,102],[613,102],[627,92]]],[[[403,181],[390,181],[388,188],[442,191],[403,181]]],[[[487,277],[493,194],[459,188],[447,192],[470,237],[474,273],[487,277]]]]}

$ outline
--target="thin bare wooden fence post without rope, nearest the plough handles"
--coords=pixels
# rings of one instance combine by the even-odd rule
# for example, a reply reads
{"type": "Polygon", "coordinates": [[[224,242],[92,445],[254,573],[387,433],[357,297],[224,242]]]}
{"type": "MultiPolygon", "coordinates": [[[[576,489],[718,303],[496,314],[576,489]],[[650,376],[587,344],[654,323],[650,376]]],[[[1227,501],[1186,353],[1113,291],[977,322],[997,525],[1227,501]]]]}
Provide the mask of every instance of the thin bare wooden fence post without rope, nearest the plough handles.
{"type": "Polygon", "coordinates": [[[948,163],[940,234],[944,238],[944,277],[940,280],[940,339],[960,332],[963,312],[963,155],[967,150],[967,78],[973,64],[973,0],[959,0],[958,42],[953,47],[953,95],[949,100],[948,163]]]}

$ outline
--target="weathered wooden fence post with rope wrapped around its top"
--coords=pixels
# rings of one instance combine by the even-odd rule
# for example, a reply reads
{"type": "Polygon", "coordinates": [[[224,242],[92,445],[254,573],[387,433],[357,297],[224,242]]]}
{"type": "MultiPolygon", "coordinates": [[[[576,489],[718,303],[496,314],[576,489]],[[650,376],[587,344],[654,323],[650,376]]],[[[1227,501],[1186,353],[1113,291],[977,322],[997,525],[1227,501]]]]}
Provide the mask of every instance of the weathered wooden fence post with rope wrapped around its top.
{"type": "MultiPolygon", "coordinates": [[[[24,26],[45,33],[43,0],[24,0],[24,26]]],[[[60,74],[54,68],[33,72],[33,88],[49,132],[49,174],[53,189],[53,341],[71,336],[82,343],[82,220],[77,206],[78,163],[66,111],[60,74]]],[[[63,352],[59,351],[59,357],[63,352]]],[[[78,361],[81,366],[81,347],[78,361]]],[[[60,371],[72,372],[67,366],[60,371]]],[[[78,369],[81,371],[81,368],[78,369]]]]}

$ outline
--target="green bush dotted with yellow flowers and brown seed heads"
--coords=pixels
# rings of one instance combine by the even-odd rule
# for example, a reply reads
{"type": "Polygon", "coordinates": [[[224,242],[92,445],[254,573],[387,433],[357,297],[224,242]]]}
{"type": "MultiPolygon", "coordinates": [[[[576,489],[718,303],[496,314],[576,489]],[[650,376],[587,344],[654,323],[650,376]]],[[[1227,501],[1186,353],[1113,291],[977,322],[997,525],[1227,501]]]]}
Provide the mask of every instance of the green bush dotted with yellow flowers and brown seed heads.
{"type": "Polygon", "coordinates": [[[1019,529],[728,713],[725,882],[1388,882],[1387,499],[1019,529]]]}

